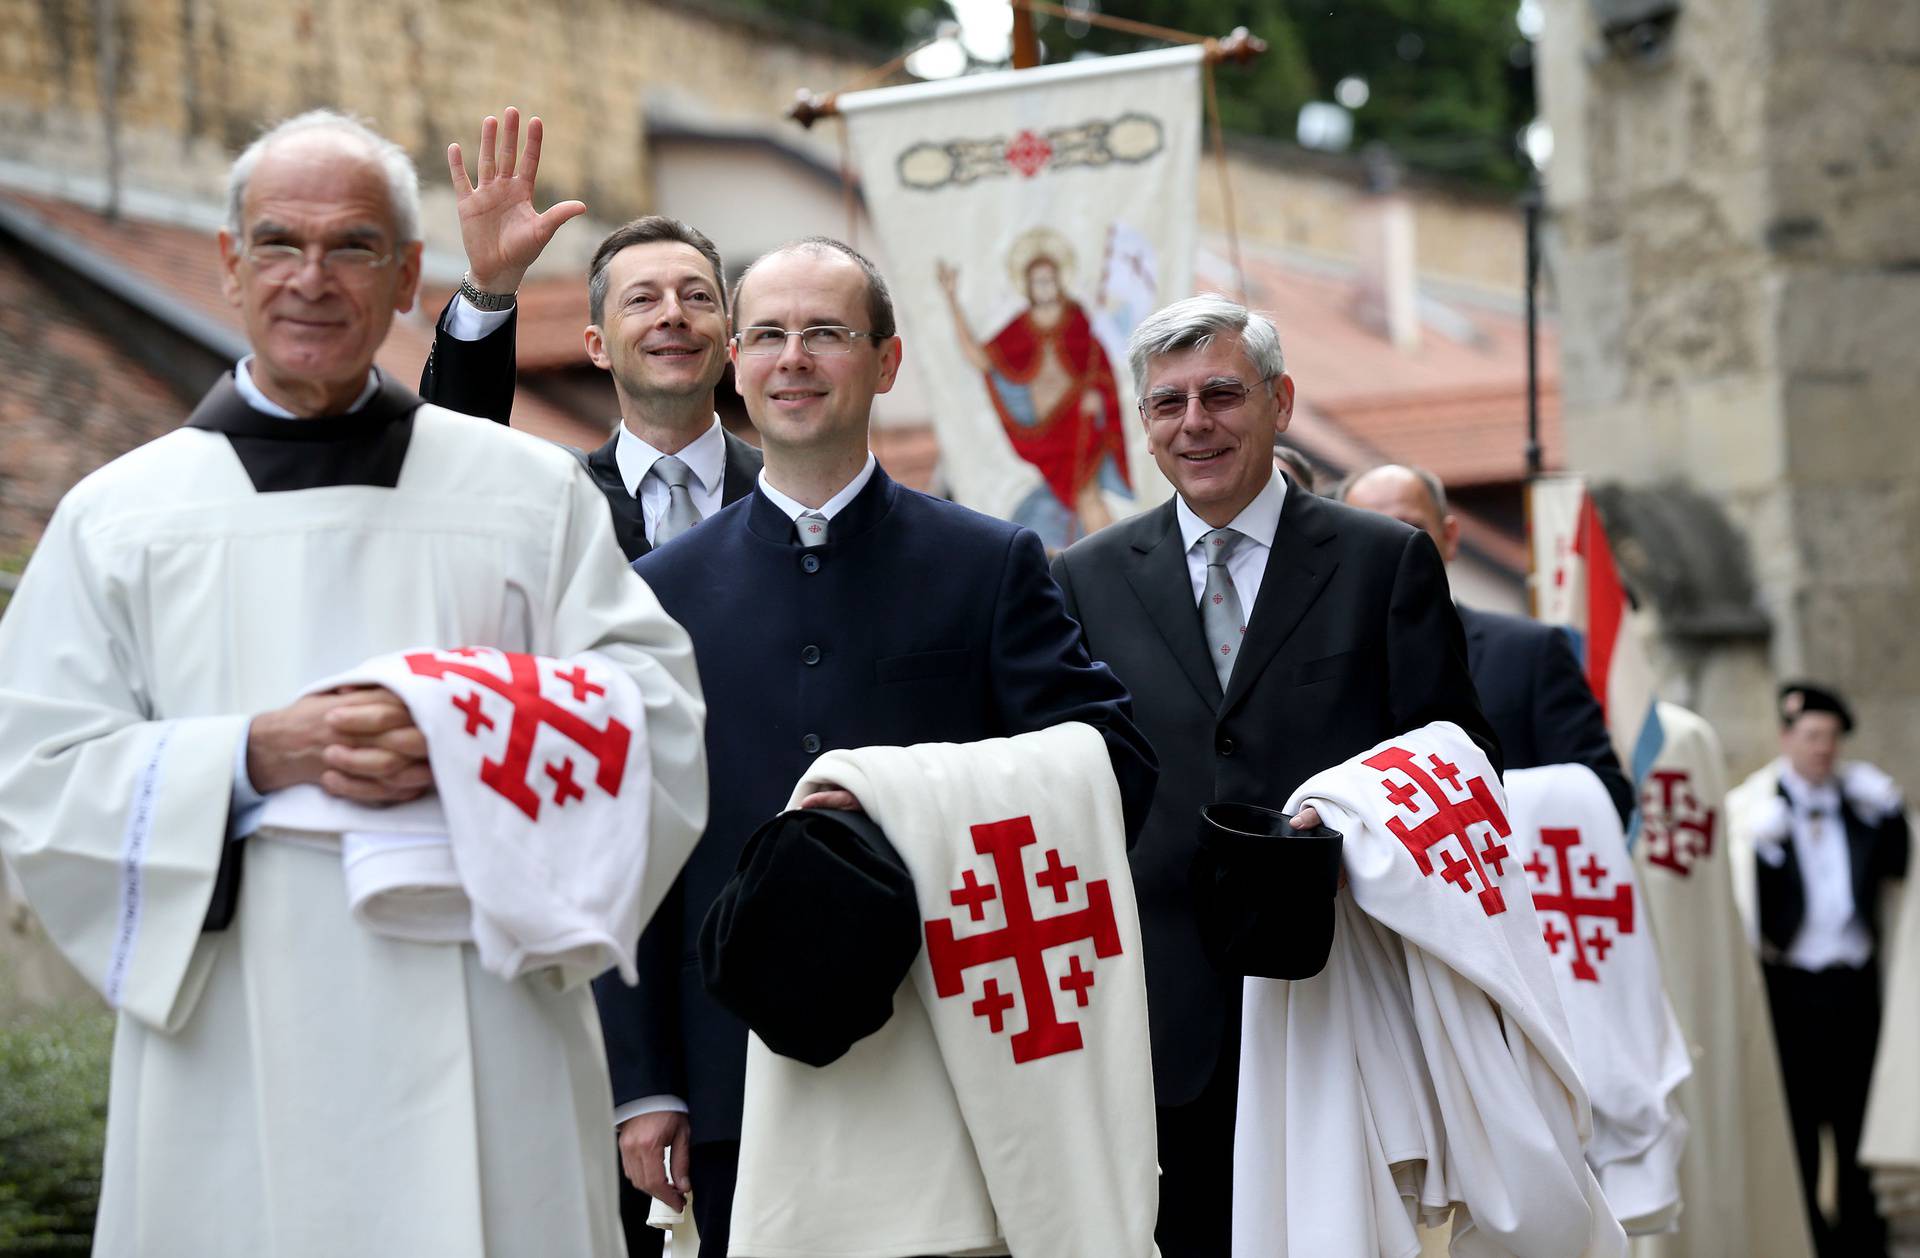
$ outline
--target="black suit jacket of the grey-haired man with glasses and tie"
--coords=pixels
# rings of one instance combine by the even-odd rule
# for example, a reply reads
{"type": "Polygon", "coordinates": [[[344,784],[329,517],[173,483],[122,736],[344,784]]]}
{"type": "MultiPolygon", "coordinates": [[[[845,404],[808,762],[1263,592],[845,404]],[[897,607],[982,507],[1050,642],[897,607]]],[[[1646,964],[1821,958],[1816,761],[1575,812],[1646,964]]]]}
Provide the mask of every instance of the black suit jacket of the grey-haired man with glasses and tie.
{"type": "Polygon", "coordinates": [[[1496,768],[1500,747],[1475,701],[1440,553],[1398,520],[1288,486],[1225,695],[1171,501],[1075,544],[1054,578],[1160,757],[1133,882],[1154,1093],[1187,1104],[1240,1018],[1240,978],[1208,962],[1194,922],[1200,807],[1283,809],[1315,772],[1428,720],[1457,722],[1496,768]]]}

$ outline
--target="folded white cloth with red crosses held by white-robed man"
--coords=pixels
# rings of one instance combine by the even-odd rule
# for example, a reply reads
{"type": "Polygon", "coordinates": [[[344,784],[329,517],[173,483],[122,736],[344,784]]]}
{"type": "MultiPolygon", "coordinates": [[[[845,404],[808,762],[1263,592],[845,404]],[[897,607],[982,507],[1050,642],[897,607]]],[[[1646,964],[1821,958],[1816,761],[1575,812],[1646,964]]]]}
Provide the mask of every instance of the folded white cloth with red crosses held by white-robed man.
{"type": "Polygon", "coordinates": [[[338,841],[369,930],[470,939],[509,980],[616,966],[636,981],[651,764],[632,676],[595,651],[461,647],[380,655],[307,693],[340,686],[384,686],[407,705],[436,793],[371,809],[294,787],[269,797],[261,834],[338,841]]]}

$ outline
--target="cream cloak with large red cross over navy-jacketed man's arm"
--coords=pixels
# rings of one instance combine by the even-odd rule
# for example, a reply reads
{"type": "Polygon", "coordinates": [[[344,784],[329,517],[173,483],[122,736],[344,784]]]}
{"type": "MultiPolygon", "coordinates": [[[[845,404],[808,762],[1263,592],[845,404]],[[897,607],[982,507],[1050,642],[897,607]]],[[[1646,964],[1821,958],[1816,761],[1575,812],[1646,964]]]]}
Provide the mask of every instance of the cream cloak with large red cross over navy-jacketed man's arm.
{"type": "Polygon", "coordinates": [[[1100,736],[831,751],[793,801],[824,786],[900,853],[927,947],[829,1066],[749,1039],[728,1252],[1156,1254],[1146,978],[1100,736]]]}

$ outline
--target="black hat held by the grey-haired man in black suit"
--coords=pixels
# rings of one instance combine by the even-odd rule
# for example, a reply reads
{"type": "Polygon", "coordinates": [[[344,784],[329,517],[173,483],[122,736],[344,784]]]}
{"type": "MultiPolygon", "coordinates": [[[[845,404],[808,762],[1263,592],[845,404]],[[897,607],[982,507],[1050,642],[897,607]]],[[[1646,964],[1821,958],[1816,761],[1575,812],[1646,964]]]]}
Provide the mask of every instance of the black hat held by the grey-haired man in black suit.
{"type": "Polygon", "coordinates": [[[1200,809],[1194,916],[1213,966],[1252,978],[1319,974],[1332,949],[1340,845],[1336,830],[1294,830],[1273,809],[1200,809]]]}

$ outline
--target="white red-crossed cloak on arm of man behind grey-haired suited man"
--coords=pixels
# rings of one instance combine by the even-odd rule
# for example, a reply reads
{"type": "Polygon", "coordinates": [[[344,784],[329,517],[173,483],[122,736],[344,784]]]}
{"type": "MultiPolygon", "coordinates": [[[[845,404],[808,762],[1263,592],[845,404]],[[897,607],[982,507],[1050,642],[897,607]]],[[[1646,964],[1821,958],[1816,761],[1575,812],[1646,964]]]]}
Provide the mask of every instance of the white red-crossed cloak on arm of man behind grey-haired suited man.
{"type": "Polygon", "coordinates": [[[1668,1231],[1680,1218],[1688,1129],[1674,1089],[1693,1064],[1620,816],[1584,764],[1509,772],[1507,809],[1594,1102],[1586,1160],[1628,1235],[1668,1231]]]}

